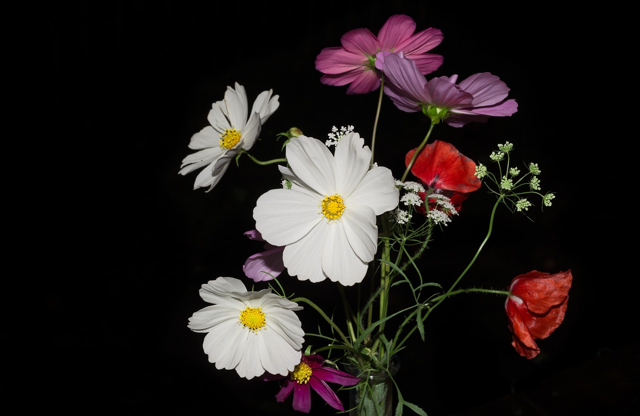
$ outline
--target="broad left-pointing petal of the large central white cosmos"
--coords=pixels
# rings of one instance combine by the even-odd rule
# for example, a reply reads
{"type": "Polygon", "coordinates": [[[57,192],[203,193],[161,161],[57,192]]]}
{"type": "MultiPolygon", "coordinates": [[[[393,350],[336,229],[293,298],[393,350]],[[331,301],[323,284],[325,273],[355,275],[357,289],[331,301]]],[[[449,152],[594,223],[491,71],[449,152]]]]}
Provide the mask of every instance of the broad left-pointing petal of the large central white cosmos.
{"type": "Polygon", "coordinates": [[[258,198],[253,219],[255,228],[269,244],[285,246],[326,220],[319,211],[317,198],[291,189],[271,189],[258,198]]]}

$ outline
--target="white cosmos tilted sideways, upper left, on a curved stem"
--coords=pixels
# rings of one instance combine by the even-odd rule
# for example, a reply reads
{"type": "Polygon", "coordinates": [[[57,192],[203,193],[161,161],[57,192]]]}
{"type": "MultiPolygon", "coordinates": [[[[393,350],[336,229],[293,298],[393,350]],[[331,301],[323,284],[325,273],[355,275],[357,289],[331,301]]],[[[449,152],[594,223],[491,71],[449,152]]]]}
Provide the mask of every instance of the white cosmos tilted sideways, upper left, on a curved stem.
{"type": "Polygon", "coordinates": [[[198,152],[182,159],[180,175],[205,166],[198,173],[193,189],[208,186],[207,192],[211,191],[240,149],[252,148],[262,124],[280,106],[278,95],[271,97],[272,93],[273,90],[261,92],[253,102],[251,113],[248,113],[244,87],[238,83],[235,90],[227,86],[225,100],[215,102],[209,111],[207,120],[211,125],[191,137],[189,148],[198,152]]]}

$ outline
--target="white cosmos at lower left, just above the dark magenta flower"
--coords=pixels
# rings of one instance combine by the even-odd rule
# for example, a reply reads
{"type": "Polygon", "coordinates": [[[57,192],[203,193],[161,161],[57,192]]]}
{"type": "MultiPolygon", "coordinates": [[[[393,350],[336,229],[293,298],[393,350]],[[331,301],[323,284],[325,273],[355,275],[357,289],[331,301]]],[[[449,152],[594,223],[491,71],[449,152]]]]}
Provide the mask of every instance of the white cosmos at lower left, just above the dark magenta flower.
{"type": "Polygon", "coordinates": [[[248,292],[235,278],[219,277],[202,285],[200,297],[214,303],[189,318],[189,329],[208,332],[204,352],[216,369],[235,369],[251,379],[265,371],[286,376],[300,364],[303,336],[293,312],[302,307],[271,293],[248,292]]]}

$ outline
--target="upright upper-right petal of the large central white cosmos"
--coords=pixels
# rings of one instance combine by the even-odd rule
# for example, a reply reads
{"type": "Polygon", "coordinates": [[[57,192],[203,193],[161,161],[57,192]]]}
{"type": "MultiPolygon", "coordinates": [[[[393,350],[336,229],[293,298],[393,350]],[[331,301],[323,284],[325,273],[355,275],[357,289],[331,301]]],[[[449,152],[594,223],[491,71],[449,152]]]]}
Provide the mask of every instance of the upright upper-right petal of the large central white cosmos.
{"type": "Polygon", "coordinates": [[[340,141],[344,143],[335,147],[336,178],[340,196],[346,198],[369,170],[371,150],[362,147],[364,139],[358,133],[348,133],[340,141]]]}

